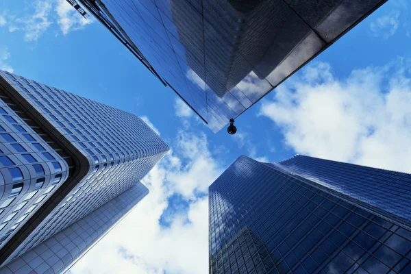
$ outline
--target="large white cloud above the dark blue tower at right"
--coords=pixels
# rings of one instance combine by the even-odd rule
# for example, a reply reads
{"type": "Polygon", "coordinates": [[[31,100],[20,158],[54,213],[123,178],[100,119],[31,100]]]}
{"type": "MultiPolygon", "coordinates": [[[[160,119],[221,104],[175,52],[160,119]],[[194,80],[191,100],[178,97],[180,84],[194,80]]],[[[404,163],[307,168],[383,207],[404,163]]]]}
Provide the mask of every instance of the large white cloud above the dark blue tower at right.
{"type": "Polygon", "coordinates": [[[404,60],[337,79],[314,63],[279,86],[260,115],[297,153],[395,171],[411,170],[411,77],[404,60]]]}

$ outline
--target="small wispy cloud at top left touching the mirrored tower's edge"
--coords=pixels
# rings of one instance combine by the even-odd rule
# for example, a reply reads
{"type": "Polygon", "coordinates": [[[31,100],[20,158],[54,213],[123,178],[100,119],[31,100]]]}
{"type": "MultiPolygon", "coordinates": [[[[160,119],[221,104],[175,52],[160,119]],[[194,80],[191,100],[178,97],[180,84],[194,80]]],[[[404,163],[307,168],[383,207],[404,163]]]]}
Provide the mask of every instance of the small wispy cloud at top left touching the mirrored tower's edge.
{"type": "Polygon", "coordinates": [[[86,25],[94,22],[92,16],[84,18],[66,0],[57,0],[55,12],[58,14],[57,21],[64,35],[73,30],[84,29],[86,25]]]}

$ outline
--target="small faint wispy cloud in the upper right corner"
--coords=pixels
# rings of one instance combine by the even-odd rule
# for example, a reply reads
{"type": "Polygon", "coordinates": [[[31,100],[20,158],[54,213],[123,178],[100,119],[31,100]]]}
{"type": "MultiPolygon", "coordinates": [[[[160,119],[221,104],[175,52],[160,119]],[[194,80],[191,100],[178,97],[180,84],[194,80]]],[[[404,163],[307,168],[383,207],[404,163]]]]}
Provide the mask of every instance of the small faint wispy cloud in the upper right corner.
{"type": "Polygon", "coordinates": [[[399,11],[390,12],[383,16],[379,16],[374,22],[371,22],[371,32],[375,37],[384,39],[393,36],[399,27],[399,11]]]}

